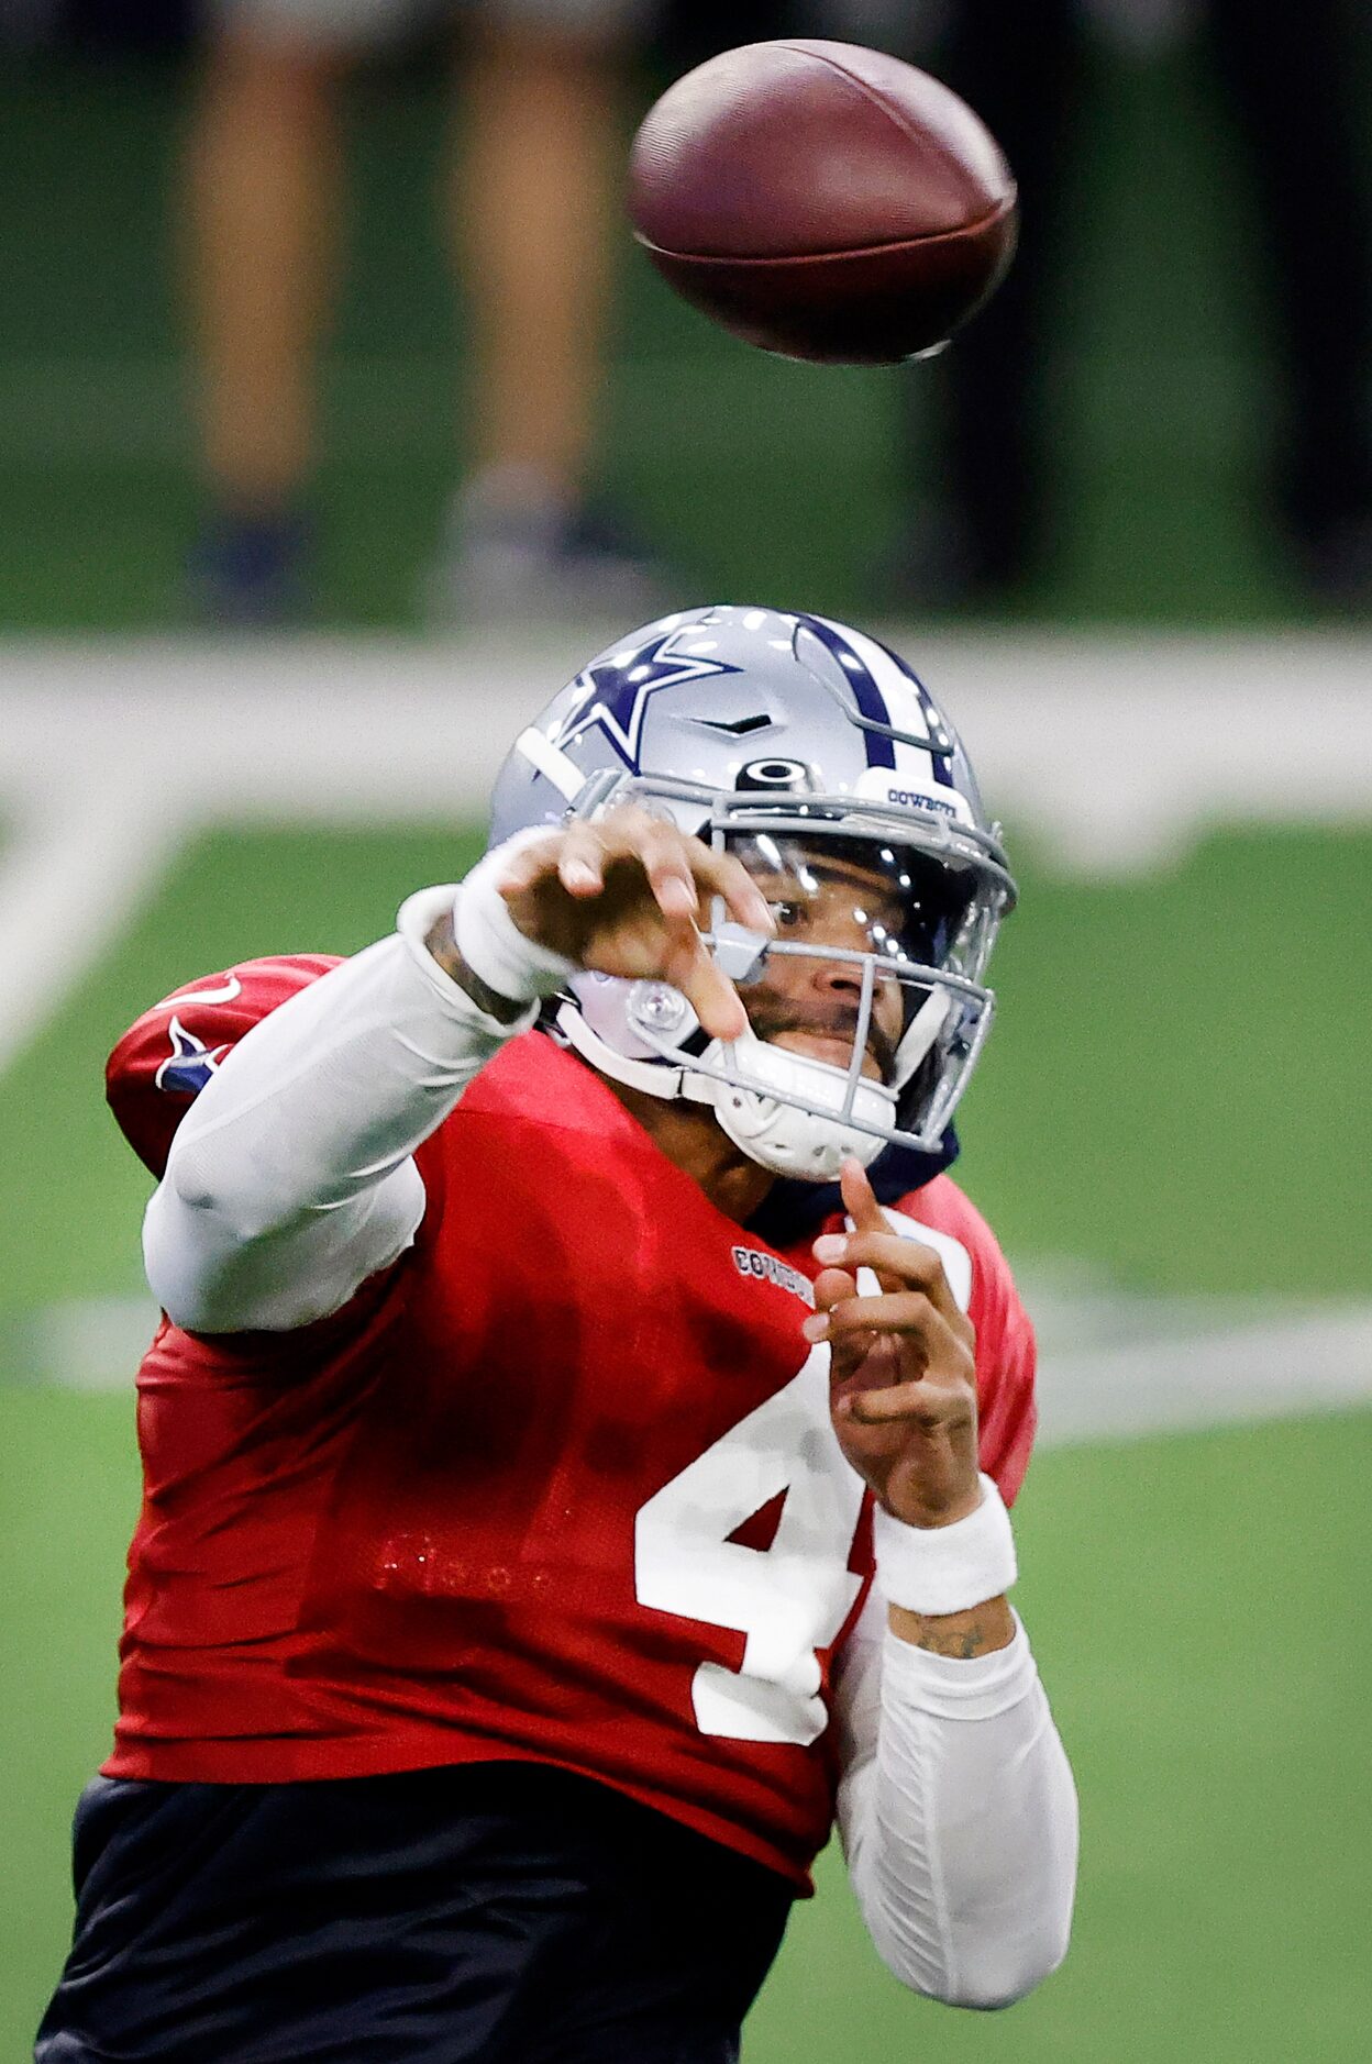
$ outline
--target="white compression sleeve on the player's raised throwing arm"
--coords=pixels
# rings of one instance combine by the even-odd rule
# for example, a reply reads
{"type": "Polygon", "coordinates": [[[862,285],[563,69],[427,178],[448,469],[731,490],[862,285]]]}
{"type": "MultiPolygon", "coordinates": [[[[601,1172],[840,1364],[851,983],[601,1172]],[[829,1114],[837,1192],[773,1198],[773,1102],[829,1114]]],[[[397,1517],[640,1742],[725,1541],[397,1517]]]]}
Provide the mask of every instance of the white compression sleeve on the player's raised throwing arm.
{"type": "Polygon", "coordinates": [[[423,941],[452,898],[413,896],[394,937],[270,1011],[182,1119],[142,1230],[177,1325],[305,1325],[413,1243],[415,1148],[538,1009],[497,1024],[437,966],[423,941]]]}

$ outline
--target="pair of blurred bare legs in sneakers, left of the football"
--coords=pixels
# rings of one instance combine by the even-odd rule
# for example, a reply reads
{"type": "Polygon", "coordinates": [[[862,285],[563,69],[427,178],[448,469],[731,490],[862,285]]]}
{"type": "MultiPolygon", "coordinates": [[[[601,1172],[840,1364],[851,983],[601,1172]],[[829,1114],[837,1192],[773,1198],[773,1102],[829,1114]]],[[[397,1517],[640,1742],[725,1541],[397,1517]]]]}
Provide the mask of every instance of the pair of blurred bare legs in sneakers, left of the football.
{"type": "MultiPolygon", "coordinates": [[[[334,87],[413,0],[219,0],[190,136],[190,297],[210,516],[202,611],[299,611],[318,343],[340,167],[334,87]]],[[[472,477],[429,582],[442,617],[648,613],[654,570],[588,499],[619,173],[619,54],[648,0],[462,0],[472,477]]]]}

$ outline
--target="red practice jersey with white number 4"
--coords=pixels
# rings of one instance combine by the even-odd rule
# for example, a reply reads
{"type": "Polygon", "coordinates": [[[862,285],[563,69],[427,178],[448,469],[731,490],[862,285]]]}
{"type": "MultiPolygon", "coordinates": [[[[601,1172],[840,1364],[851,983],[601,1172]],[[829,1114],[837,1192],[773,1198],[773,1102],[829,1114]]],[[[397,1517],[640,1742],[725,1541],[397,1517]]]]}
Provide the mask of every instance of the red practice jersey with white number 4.
{"type": "MultiPolygon", "coordinates": [[[[124,1036],[109,1098],[155,1172],[233,1040],[328,966],[233,968],[124,1036]]],[[[724,1218],[543,1032],[417,1162],[413,1249],[340,1313],[221,1337],[163,1321],[149,1348],[105,1773],[543,1761],[805,1884],[834,1814],[829,1666],[871,1583],[827,1350],[801,1333],[809,1236],[778,1251],[724,1218]]],[[[900,1210],[968,1302],[1009,1501],[1030,1321],[955,1183],[900,1210]]]]}

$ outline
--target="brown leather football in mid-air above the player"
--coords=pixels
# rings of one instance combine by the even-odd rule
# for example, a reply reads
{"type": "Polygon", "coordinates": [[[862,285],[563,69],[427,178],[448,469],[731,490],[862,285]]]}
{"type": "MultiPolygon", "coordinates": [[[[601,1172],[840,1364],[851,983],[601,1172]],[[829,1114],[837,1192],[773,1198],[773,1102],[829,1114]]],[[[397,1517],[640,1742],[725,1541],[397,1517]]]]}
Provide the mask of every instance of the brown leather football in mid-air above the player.
{"type": "Polygon", "coordinates": [[[842,365],[937,349],[1015,252],[1015,180],[968,103],[819,37],[743,43],[668,87],[633,138],[629,215],[726,330],[842,365]]]}

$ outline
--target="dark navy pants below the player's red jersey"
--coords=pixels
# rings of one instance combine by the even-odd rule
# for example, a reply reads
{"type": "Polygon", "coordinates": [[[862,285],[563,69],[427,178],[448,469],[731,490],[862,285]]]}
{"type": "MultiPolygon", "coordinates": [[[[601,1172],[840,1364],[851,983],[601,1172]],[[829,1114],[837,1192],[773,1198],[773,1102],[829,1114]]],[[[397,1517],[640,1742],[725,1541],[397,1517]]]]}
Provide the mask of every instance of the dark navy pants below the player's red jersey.
{"type": "Polygon", "coordinates": [[[95,1779],[37,2064],[732,2064],[792,1886],[526,1763],[95,1779]]]}

